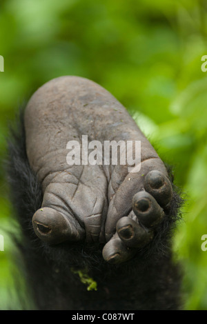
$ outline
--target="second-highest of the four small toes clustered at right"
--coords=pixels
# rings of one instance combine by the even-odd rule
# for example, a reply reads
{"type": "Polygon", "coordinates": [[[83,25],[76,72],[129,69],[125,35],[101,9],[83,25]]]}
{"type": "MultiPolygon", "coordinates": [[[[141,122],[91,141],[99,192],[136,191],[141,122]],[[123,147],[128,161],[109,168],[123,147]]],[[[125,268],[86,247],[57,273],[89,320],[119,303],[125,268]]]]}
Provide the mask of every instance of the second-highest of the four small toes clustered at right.
{"type": "Polygon", "coordinates": [[[137,192],[132,199],[132,210],[145,227],[157,225],[164,217],[164,210],[148,192],[137,192]]]}

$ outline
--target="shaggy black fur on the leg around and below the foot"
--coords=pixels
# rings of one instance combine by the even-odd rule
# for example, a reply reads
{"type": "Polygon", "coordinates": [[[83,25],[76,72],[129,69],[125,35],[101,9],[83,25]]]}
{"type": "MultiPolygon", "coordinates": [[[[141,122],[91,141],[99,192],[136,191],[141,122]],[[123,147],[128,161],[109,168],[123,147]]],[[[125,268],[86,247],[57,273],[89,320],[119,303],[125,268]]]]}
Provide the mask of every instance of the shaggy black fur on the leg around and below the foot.
{"type": "Polygon", "coordinates": [[[18,244],[35,309],[180,309],[181,271],[171,252],[171,237],[181,206],[176,190],[154,239],[132,260],[110,265],[103,260],[101,245],[61,243],[50,247],[34,234],[32,216],[41,207],[43,193],[28,163],[23,111],[19,125],[11,132],[8,153],[11,199],[21,227],[18,244]],[[88,291],[74,270],[87,270],[97,282],[97,291],[88,291]]]}

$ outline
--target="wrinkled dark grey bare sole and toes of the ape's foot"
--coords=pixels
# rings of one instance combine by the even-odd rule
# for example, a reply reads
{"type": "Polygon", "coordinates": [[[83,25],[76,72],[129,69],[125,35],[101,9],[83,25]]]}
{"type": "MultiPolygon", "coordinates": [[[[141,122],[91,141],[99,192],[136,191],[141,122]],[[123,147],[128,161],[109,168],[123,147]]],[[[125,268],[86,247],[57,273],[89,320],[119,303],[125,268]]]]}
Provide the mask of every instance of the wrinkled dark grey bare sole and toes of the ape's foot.
{"type": "Polygon", "coordinates": [[[49,245],[103,243],[103,259],[122,263],[153,237],[172,187],[164,163],[115,97],[97,83],[59,77],[26,107],[26,148],[43,189],[32,223],[49,245]],[[68,165],[68,141],[141,141],[141,170],[128,165],[68,165]]]}

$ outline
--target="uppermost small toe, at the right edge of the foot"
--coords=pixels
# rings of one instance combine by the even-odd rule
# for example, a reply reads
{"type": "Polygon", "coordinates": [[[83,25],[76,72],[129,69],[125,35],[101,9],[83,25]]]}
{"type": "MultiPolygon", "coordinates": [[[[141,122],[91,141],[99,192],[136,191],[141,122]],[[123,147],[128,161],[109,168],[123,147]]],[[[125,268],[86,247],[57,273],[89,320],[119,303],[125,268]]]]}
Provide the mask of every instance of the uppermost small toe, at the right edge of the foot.
{"type": "Polygon", "coordinates": [[[160,171],[152,170],[146,174],[144,188],[162,207],[168,205],[172,198],[172,185],[170,180],[160,171]]]}

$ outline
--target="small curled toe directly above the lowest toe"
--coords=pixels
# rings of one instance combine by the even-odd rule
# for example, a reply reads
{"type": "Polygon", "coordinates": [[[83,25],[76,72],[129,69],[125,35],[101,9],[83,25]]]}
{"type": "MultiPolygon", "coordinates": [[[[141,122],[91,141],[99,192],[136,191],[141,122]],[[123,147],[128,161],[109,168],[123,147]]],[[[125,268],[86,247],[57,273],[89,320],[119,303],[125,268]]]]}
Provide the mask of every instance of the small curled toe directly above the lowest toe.
{"type": "Polygon", "coordinates": [[[130,217],[122,217],[117,222],[117,233],[119,238],[128,247],[143,247],[152,239],[152,232],[146,231],[139,223],[130,219],[130,217]]]}

